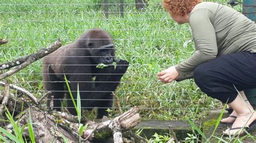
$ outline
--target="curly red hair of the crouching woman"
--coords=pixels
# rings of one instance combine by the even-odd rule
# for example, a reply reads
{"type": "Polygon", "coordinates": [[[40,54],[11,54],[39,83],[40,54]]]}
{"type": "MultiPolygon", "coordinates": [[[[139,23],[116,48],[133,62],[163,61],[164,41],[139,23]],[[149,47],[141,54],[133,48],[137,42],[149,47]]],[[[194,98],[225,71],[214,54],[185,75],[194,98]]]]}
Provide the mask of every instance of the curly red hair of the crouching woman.
{"type": "Polygon", "coordinates": [[[163,0],[163,6],[171,15],[184,16],[200,2],[201,0],[163,0]]]}

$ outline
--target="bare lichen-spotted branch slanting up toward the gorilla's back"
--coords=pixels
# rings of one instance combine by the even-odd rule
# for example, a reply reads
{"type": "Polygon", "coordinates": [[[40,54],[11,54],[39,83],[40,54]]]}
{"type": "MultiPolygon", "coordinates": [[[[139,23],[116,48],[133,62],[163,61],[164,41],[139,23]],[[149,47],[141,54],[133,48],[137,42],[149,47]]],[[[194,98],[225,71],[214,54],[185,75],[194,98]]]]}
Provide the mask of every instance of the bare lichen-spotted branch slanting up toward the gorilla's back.
{"type": "Polygon", "coordinates": [[[45,55],[48,55],[48,54],[56,51],[56,49],[58,49],[61,46],[62,45],[60,44],[60,40],[57,40],[53,44],[51,44],[50,46],[48,46],[46,48],[43,48],[43,49],[39,50],[36,53],[28,55],[28,57],[26,57],[26,58],[20,58],[20,59],[23,59],[25,61],[15,60],[15,61],[12,61],[12,62],[4,63],[3,65],[0,66],[1,67],[0,69],[9,69],[11,67],[15,67],[15,68],[7,71],[4,74],[1,74],[0,75],[0,80],[16,73],[17,71],[19,71],[23,68],[25,68],[26,66],[30,65],[32,62],[35,62],[36,60],[43,58],[45,55]]]}

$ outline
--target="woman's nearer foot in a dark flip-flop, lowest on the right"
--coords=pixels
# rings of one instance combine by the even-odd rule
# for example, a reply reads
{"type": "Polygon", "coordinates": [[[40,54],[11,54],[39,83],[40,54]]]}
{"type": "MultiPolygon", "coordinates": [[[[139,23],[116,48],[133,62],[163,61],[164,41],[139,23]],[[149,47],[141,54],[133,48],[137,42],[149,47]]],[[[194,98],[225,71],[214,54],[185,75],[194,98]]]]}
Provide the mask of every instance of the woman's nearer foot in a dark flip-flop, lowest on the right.
{"type": "Polygon", "coordinates": [[[253,123],[253,121],[255,121],[255,120],[256,120],[256,112],[255,111],[245,112],[240,115],[238,114],[233,125],[231,126],[231,128],[233,128],[233,129],[232,130],[227,129],[223,133],[225,135],[241,134],[241,133],[245,132],[244,130],[242,130],[242,128],[250,126],[253,123]],[[238,128],[238,129],[234,129],[234,128],[238,128]]]}

